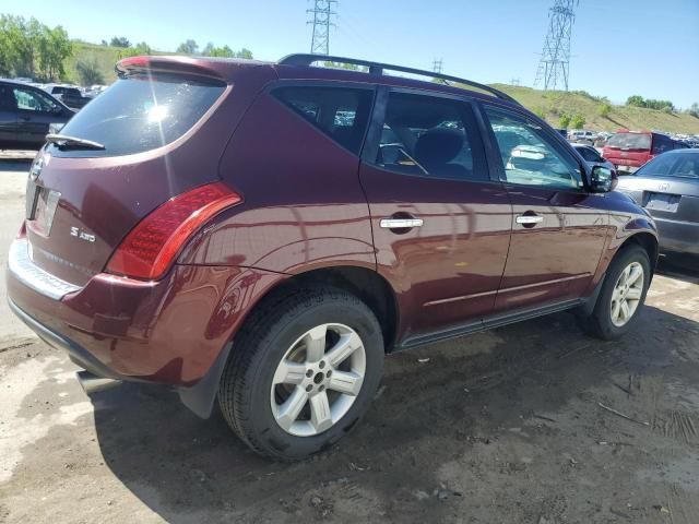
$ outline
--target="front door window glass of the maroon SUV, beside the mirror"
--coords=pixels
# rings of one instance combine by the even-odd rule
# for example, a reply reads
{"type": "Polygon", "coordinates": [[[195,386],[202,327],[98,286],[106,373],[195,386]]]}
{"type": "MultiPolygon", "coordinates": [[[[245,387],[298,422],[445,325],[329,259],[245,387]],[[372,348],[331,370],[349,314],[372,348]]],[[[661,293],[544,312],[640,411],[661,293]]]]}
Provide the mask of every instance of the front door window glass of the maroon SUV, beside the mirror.
{"type": "Polygon", "coordinates": [[[581,186],[578,163],[559,153],[538,124],[502,109],[485,111],[508,182],[560,189],[581,186]]]}

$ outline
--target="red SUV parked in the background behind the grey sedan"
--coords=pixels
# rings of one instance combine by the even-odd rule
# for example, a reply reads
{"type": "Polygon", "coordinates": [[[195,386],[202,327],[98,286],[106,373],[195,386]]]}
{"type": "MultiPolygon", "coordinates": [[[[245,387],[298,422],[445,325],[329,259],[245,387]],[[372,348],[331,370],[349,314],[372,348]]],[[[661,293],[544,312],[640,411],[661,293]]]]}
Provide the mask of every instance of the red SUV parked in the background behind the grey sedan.
{"type": "Polygon", "coordinates": [[[620,131],[607,140],[603,156],[616,166],[619,174],[629,174],[660,154],[682,148],[685,148],[684,144],[662,133],[620,131]]]}

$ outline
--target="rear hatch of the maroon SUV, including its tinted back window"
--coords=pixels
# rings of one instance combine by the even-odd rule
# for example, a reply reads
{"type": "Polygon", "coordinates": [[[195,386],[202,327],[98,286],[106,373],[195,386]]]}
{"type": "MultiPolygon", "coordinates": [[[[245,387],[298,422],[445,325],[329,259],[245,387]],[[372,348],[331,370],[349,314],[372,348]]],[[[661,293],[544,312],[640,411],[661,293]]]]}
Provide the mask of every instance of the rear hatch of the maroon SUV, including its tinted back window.
{"type": "Polygon", "coordinates": [[[220,179],[218,160],[237,121],[273,74],[244,62],[150,60],[122,61],[120,79],[60,132],[80,140],[46,144],[32,166],[29,254],[71,284],[102,272],[161,204],[220,179]]]}

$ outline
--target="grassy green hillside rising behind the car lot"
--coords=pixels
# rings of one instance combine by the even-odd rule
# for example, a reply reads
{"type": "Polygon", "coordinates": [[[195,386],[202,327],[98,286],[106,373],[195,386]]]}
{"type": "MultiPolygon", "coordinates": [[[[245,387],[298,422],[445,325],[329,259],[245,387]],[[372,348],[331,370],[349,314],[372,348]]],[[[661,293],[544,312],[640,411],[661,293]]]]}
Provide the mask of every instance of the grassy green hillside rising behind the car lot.
{"type": "MultiPolygon", "coordinates": [[[[116,80],[114,66],[119,60],[122,48],[99,46],[84,41],[73,41],[73,56],[67,60],[66,72],[72,81],[78,81],[75,63],[86,60],[96,63],[107,83],[116,80]]],[[[158,52],[158,51],[155,51],[158,52]]],[[[159,52],[158,52],[159,53],[159,52]]],[[[699,119],[689,114],[668,114],[654,109],[629,106],[612,106],[605,117],[601,115],[603,102],[584,92],[540,91],[531,87],[494,84],[524,107],[544,117],[552,126],[558,127],[562,114],[581,115],[585,119],[584,129],[616,131],[627,129],[654,129],[673,133],[699,133],[699,119]]]]}

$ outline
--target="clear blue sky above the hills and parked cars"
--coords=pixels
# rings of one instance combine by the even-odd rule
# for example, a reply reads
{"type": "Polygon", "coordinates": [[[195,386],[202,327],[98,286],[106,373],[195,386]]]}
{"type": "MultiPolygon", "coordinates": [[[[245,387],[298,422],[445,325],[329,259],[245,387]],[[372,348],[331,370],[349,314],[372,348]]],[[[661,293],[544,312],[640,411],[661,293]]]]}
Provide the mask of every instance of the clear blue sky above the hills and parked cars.
{"type": "MultiPolygon", "coordinates": [[[[310,50],[312,0],[3,0],[0,13],[62,25],[72,38],[126,36],[154,49],[185,39],[277,60],[310,50]]],[[[341,0],[330,52],[431,69],[483,83],[533,85],[554,0],[341,0]]],[[[699,0],[580,0],[570,90],[699,102],[699,0]]]]}

